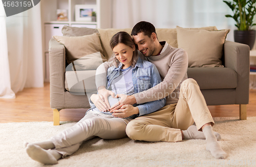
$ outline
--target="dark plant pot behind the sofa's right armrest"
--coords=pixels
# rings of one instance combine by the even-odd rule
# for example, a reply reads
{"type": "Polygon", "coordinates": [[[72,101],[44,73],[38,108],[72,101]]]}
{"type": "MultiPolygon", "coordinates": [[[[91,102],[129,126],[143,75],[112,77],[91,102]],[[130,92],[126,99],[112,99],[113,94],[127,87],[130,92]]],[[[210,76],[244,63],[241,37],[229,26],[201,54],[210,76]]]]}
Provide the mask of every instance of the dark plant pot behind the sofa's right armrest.
{"type": "Polygon", "coordinates": [[[255,42],[255,34],[256,34],[255,30],[250,30],[250,31],[234,30],[234,41],[249,45],[251,50],[255,42]]]}

